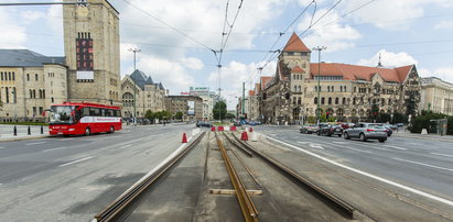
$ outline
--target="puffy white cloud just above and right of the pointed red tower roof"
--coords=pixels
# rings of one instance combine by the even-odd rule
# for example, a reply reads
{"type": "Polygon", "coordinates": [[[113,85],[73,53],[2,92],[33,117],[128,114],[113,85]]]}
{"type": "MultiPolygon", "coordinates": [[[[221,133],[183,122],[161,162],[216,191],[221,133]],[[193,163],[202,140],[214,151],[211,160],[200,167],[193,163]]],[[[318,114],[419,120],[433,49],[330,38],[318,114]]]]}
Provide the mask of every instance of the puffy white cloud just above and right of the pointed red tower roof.
{"type": "MultiPolygon", "coordinates": [[[[321,15],[326,12],[325,9],[319,10],[313,19],[316,21],[321,15]]],[[[343,25],[338,23],[339,15],[336,12],[330,12],[315,24],[308,36],[303,37],[303,42],[308,47],[314,47],[317,45],[327,46],[327,51],[341,51],[348,47],[353,47],[353,41],[362,37],[362,34],[349,25],[343,25]],[[333,22],[334,21],[334,22],[333,22]]],[[[311,15],[304,16],[298,29],[300,31],[310,26],[311,15]]]]}

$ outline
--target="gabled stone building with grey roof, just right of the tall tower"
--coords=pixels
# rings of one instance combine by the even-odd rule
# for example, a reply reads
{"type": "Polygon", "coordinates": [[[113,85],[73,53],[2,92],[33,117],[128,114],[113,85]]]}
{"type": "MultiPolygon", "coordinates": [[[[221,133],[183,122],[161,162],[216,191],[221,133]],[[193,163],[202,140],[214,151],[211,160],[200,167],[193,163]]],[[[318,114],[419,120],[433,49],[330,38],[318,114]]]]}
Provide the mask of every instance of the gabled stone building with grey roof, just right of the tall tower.
{"type": "Polygon", "coordinates": [[[144,118],[148,110],[152,112],[165,110],[166,90],[162,84],[154,84],[150,76],[138,69],[122,78],[121,92],[123,118],[132,118],[133,110],[137,118],[144,118]]]}

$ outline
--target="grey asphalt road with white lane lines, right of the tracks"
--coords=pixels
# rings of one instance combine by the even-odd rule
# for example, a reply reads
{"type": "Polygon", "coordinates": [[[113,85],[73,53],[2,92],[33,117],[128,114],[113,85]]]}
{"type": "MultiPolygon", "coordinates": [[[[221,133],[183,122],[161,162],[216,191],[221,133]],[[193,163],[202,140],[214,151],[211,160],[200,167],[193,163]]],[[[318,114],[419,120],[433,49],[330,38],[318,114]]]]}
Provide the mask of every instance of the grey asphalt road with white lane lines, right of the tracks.
{"type": "Polygon", "coordinates": [[[370,182],[376,179],[373,177],[379,177],[379,181],[388,180],[390,187],[403,188],[435,207],[450,212],[453,209],[453,143],[397,136],[389,137],[386,143],[348,141],[301,134],[299,129],[290,126],[257,126],[255,130],[292,145],[291,151],[296,154],[308,151],[349,170],[367,174],[370,182]]]}

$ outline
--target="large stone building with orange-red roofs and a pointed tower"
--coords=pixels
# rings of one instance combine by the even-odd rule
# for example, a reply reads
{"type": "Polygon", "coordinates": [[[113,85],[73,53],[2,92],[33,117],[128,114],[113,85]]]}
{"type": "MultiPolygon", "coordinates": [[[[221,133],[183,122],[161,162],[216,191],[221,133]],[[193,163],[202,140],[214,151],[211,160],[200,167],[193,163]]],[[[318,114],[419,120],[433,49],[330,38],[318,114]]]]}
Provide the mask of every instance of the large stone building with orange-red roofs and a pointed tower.
{"type": "Polygon", "coordinates": [[[317,115],[319,104],[321,115],[328,113],[336,121],[371,121],[377,113],[417,113],[421,84],[414,65],[312,64],[310,54],[293,34],[279,56],[276,75],[261,82],[265,122],[303,123],[317,115]]]}

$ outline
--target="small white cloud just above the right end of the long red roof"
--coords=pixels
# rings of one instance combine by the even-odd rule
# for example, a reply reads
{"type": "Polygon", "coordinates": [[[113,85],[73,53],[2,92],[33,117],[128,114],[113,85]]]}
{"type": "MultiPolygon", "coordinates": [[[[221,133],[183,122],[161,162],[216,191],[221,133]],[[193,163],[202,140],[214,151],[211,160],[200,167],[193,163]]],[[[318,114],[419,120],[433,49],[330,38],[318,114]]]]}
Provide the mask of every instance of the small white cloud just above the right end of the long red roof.
{"type": "Polygon", "coordinates": [[[386,49],[380,49],[371,58],[363,58],[357,64],[363,66],[377,66],[379,63],[379,54],[380,60],[382,66],[385,67],[399,67],[399,66],[408,66],[412,64],[418,64],[418,60],[413,58],[411,55],[405,52],[400,53],[392,53],[386,49]]]}

